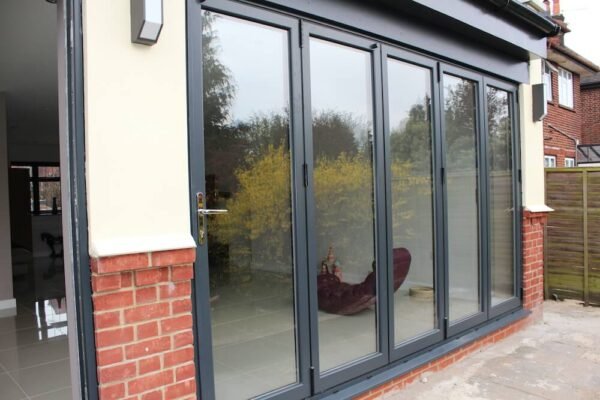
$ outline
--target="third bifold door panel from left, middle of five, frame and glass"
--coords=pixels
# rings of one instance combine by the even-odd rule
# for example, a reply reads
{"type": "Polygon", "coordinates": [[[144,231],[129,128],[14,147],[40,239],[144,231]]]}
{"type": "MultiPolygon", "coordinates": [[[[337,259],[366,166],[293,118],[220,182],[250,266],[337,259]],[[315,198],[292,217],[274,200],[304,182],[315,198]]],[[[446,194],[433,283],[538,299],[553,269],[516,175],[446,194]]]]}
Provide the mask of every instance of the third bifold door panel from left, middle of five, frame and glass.
{"type": "Polygon", "coordinates": [[[444,338],[437,62],[382,48],[390,348],[398,359],[444,338]],[[394,290],[399,253],[410,268],[394,290]]]}

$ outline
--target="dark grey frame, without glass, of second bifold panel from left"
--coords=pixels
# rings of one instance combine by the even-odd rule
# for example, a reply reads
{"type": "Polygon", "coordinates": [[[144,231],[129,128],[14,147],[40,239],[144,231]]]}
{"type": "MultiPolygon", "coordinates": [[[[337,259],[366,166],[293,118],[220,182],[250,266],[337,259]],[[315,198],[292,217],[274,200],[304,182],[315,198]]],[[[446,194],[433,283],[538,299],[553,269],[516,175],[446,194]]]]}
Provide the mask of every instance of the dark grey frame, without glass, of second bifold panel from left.
{"type": "Polygon", "coordinates": [[[371,370],[385,365],[388,362],[388,327],[387,318],[382,318],[388,314],[386,298],[387,277],[385,276],[387,265],[385,248],[386,231],[385,223],[385,196],[382,193],[384,185],[385,166],[383,161],[383,123],[382,123],[382,105],[381,98],[381,70],[380,52],[378,44],[374,40],[366,39],[357,35],[352,35],[343,31],[324,27],[313,23],[302,22],[302,72],[303,72],[303,96],[304,96],[304,130],[305,130],[305,162],[308,170],[308,190],[307,190],[307,243],[308,243],[308,275],[309,275],[309,298],[311,310],[311,340],[313,341],[312,370],[314,392],[319,393],[342,382],[353,379],[364,373],[365,370],[371,370]],[[316,251],[316,238],[311,234],[311,228],[315,226],[315,199],[313,188],[313,141],[312,141],[312,107],[310,91],[310,38],[319,38],[332,43],[356,48],[371,54],[371,79],[373,91],[373,173],[374,173],[374,214],[375,214],[375,258],[377,271],[377,339],[378,351],[365,356],[350,364],[345,364],[331,371],[320,373],[319,369],[319,332],[318,332],[318,299],[317,299],[317,266],[319,258],[316,251]]]}

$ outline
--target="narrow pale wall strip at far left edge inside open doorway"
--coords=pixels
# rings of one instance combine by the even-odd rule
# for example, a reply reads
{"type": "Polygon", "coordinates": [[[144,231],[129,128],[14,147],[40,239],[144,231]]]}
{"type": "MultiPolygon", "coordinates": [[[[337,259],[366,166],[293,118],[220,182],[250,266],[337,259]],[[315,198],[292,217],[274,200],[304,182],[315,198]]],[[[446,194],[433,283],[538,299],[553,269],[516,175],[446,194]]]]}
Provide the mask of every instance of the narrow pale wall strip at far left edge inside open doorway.
{"type": "Polygon", "coordinates": [[[13,298],[6,139],[6,101],[0,92],[0,300],[13,298]]]}

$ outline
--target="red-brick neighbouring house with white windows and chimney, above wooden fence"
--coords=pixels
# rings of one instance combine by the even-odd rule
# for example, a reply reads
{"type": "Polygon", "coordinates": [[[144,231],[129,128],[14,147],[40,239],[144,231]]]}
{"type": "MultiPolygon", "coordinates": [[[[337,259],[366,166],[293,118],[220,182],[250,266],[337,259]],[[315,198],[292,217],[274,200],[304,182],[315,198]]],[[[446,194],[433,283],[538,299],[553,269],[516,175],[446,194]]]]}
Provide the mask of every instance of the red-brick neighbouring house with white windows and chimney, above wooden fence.
{"type": "Polygon", "coordinates": [[[600,72],[600,67],[565,45],[570,32],[560,13],[560,1],[552,4],[552,18],[561,32],[548,39],[548,56],[544,63],[547,115],[544,119],[544,166],[576,167],[579,145],[583,144],[585,100],[580,83],[600,72]]]}

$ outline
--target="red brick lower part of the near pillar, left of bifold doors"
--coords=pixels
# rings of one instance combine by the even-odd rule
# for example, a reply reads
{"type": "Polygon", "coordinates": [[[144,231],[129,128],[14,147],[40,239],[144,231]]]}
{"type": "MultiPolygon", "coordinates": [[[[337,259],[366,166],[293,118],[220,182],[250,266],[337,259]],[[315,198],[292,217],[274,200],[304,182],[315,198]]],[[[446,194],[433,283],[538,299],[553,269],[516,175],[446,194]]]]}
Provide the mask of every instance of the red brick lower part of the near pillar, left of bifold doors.
{"type": "Polygon", "coordinates": [[[195,399],[194,249],[92,259],[101,400],[195,399]]]}

